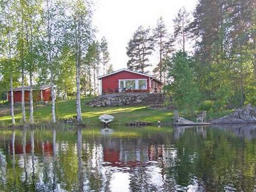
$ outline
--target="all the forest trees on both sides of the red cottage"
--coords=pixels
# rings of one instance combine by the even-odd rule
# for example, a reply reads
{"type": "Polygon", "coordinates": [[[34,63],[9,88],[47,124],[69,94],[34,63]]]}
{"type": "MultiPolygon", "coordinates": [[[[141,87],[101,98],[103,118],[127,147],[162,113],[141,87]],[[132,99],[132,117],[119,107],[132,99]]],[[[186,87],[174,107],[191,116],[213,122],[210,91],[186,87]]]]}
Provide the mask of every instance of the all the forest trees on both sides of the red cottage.
{"type": "MultiPolygon", "coordinates": [[[[84,0],[1,0],[0,97],[33,85],[50,84],[52,121],[55,100],[98,94],[97,76],[113,71],[106,38],[97,40],[93,2],[84,0]]],[[[156,26],[138,26],[127,42],[127,68],[154,73],[172,104],[185,111],[238,108],[256,104],[255,2],[200,0],[193,13],[181,8],[169,33],[162,17],[156,26]],[[153,55],[157,56],[157,62],[153,55]]],[[[23,122],[27,122],[24,102],[23,122]]]]}

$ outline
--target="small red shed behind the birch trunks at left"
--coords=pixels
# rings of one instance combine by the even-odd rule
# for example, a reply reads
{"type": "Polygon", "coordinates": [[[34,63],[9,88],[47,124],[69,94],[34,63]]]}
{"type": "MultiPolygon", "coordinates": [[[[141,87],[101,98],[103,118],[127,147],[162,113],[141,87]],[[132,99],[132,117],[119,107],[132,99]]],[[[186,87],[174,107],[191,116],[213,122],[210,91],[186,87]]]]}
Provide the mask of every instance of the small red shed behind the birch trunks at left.
{"type": "MultiPolygon", "coordinates": [[[[25,102],[29,101],[30,86],[25,86],[25,102]]],[[[39,86],[39,88],[33,88],[33,99],[38,101],[51,101],[51,86],[39,86]]],[[[8,92],[8,101],[11,101],[10,91],[8,92]]],[[[22,87],[13,89],[13,101],[22,102],[22,87]]]]}

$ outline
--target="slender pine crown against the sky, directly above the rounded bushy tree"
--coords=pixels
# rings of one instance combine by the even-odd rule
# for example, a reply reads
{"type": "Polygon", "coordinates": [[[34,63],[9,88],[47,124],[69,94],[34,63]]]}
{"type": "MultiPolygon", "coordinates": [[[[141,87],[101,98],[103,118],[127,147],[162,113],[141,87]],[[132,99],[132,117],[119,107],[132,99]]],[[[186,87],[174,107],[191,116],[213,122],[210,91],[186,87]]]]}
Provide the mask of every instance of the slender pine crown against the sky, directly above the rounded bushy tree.
{"type": "Polygon", "coordinates": [[[178,15],[173,20],[174,22],[174,40],[178,45],[182,45],[183,53],[185,53],[185,42],[188,37],[188,26],[189,26],[189,13],[182,7],[178,15]]]}

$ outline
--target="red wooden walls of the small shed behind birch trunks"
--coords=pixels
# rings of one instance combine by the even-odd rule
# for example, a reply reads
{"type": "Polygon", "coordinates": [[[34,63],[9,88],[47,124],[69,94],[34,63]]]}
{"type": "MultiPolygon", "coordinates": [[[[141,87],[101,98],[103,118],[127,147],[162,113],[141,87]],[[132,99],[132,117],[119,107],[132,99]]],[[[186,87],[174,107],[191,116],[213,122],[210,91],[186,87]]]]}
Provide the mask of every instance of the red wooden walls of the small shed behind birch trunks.
{"type": "MultiPolygon", "coordinates": [[[[35,92],[35,90],[33,90],[33,92],[35,92]]],[[[29,101],[29,91],[25,90],[25,102],[29,101]]],[[[51,101],[51,89],[47,89],[47,90],[43,90],[42,91],[42,100],[43,101],[51,101]]],[[[11,101],[11,95],[10,92],[8,94],[8,100],[9,102],[11,101]]],[[[38,93],[38,98],[37,100],[41,100],[41,95],[40,95],[40,91],[38,93]]],[[[13,91],[13,101],[14,102],[22,102],[22,91],[13,91]]]]}

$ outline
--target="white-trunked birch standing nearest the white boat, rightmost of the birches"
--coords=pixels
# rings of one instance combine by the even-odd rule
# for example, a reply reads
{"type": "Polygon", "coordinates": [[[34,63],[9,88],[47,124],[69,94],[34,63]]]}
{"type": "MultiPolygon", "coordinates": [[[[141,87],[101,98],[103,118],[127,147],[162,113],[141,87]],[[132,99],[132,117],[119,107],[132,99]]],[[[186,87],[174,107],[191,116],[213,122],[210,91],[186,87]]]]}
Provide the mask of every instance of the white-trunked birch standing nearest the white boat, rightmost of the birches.
{"type": "Polygon", "coordinates": [[[87,51],[92,34],[90,5],[83,0],[70,2],[70,44],[73,49],[76,66],[76,114],[77,121],[82,121],[80,75],[82,57],[87,51]]]}

